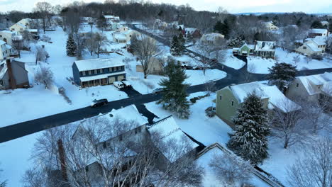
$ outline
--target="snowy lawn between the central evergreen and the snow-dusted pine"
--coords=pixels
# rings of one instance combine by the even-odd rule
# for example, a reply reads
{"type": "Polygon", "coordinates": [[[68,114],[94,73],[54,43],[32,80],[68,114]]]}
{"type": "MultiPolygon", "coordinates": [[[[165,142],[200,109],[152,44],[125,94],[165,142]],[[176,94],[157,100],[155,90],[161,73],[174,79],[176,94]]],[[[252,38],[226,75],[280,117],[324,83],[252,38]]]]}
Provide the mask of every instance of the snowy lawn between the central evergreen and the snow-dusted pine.
{"type": "MultiPolygon", "coordinates": [[[[205,94],[204,92],[190,94],[188,99],[195,96],[204,96],[205,94]]],[[[192,114],[187,120],[179,119],[174,116],[177,125],[179,125],[184,132],[206,146],[214,144],[215,142],[226,145],[226,142],[229,140],[227,133],[232,131],[231,128],[218,117],[206,117],[205,109],[209,106],[215,106],[213,102],[215,97],[216,94],[211,94],[211,96],[201,98],[197,103],[190,106],[192,114]]],[[[172,115],[172,113],[165,111],[161,105],[157,105],[155,102],[146,103],[145,106],[160,119],[172,115]]]]}

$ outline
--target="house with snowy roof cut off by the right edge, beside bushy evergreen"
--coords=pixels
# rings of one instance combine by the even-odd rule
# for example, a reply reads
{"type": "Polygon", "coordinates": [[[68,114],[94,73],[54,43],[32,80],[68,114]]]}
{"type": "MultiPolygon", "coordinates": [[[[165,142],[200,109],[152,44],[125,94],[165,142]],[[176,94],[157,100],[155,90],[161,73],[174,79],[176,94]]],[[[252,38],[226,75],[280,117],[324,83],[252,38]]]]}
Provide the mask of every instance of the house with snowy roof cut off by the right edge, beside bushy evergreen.
{"type": "Polygon", "coordinates": [[[289,98],[303,98],[307,101],[318,101],[323,95],[332,96],[332,73],[297,77],[286,91],[289,98]]]}

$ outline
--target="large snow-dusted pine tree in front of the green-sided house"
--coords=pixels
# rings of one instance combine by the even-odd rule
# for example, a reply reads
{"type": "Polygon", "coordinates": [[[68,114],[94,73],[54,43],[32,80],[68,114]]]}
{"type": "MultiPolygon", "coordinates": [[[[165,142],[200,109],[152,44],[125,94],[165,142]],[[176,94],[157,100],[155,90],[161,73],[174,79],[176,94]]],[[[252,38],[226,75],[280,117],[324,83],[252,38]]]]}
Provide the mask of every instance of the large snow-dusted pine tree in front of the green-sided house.
{"type": "Polygon", "coordinates": [[[267,111],[262,108],[262,100],[254,93],[249,94],[238,109],[233,123],[235,132],[230,135],[227,147],[238,156],[253,164],[262,163],[267,158],[267,111]]]}

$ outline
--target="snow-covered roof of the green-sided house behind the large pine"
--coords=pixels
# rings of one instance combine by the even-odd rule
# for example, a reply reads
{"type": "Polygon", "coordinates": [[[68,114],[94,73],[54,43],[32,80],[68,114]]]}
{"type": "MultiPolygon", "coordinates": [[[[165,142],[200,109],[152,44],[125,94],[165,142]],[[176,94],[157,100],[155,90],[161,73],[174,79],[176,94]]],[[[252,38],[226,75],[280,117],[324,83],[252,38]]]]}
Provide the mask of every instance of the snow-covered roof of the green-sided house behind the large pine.
{"type": "Polygon", "coordinates": [[[238,99],[240,103],[243,103],[244,99],[255,91],[255,94],[260,98],[269,98],[269,109],[279,108],[284,112],[288,112],[290,108],[285,107],[285,102],[292,103],[282,92],[277,88],[277,86],[268,86],[261,84],[259,82],[250,82],[246,84],[238,84],[234,86],[229,86],[231,91],[233,91],[234,96],[238,99]]]}

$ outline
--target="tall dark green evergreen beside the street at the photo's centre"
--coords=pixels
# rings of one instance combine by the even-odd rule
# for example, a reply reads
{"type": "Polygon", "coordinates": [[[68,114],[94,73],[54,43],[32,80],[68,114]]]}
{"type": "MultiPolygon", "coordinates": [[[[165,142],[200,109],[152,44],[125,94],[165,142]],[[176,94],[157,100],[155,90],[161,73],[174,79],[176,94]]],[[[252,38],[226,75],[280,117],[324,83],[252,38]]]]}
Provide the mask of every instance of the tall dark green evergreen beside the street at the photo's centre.
{"type": "Polygon", "coordinates": [[[162,98],[157,103],[161,103],[165,110],[175,113],[179,118],[189,118],[189,102],[187,101],[186,89],[189,86],[184,84],[187,74],[174,59],[169,59],[165,67],[165,74],[168,79],[162,79],[162,98]]]}

